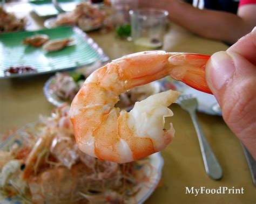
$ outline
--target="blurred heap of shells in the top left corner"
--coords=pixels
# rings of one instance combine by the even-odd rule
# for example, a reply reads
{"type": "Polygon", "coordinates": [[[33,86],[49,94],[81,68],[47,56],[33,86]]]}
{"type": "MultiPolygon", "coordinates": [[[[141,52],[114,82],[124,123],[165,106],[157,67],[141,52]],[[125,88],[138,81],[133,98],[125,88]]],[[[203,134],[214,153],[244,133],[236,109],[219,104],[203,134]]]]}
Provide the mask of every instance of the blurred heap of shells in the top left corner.
{"type": "Polygon", "coordinates": [[[8,13],[0,6],[0,33],[21,31],[25,29],[25,18],[17,18],[13,13],[8,13]]]}

